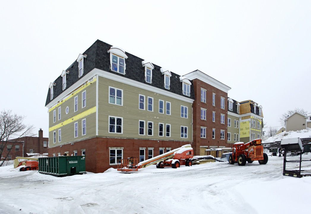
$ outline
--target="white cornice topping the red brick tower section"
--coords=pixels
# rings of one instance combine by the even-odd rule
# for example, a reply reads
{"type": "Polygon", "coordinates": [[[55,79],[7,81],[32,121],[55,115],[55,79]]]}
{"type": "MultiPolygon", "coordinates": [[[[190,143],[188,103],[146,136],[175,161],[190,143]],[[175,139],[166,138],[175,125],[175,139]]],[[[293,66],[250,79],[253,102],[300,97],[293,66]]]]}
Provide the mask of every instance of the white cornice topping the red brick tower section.
{"type": "Polygon", "coordinates": [[[231,89],[229,86],[226,86],[225,84],[221,83],[220,81],[208,76],[207,74],[196,70],[191,73],[188,73],[186,75],[183,75],[183,77],[186,77],[189,80],[199,79],[203,82],[206,82],[207,84],[214,86],[215,88],[218,88],[221,91],[224,91],[228,93],[228,91],[231,89]]]}

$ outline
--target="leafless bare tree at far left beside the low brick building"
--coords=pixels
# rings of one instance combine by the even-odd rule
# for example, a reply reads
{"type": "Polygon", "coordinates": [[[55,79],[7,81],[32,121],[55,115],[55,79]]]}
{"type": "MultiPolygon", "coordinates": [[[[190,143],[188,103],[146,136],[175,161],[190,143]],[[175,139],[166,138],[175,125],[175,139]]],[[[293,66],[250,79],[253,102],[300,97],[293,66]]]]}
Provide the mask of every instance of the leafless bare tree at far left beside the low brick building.
{"type": "Polygon", "coordinates": [[[20,144],[22,137],[32,137],[35,135],[34,126],[24,124],[24,119],[25,116],[12,114],[12,110],[3,110],[0,112],[0,156],[2,156],[3,150],[7,145],[11,146],[11,149],[7,149],[7,154],[0,166],[7,160],[7,156],[12,151],[12,148],[20,144]]]}

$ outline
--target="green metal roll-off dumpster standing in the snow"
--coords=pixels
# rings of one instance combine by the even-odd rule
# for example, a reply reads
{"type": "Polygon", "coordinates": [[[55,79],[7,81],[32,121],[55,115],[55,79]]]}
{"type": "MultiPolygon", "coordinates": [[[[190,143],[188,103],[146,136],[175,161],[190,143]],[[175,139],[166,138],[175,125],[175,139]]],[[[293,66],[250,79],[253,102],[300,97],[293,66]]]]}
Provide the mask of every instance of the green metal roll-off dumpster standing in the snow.
{"type": "Polygon", "coordinates": [[[85,171],[85,156],[40,157],[39,173],[55,176],[83,174],[85,171]]]}

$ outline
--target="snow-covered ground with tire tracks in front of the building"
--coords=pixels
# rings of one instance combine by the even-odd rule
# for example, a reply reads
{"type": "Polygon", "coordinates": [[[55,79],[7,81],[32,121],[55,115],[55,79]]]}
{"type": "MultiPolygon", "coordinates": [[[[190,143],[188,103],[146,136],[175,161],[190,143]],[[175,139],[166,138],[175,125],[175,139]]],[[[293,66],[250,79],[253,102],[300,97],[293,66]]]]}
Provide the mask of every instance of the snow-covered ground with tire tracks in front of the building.
{"type": "Polygon", "coordinates": [[[109,169],[62,178],[8,165],[0,167],[0,213],[309,213],[311,177],[282,172],[283,157],[277,156],[267,165],[151,165],[131,174],[109,169]]]}

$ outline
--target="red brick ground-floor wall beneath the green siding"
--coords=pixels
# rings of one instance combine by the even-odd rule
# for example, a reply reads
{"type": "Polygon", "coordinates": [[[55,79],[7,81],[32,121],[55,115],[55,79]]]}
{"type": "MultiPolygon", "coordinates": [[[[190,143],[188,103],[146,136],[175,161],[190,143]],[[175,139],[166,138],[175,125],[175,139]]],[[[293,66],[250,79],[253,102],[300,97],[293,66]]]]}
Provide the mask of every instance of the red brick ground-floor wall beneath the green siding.
{"type": "MultiPolygon", "coordinates": [[[[65,151],[69,151],[68,155],[73,155],[73,151],[77,150],[81,155],[81,149],[86,150],[86,171],[94,173],[102,173],[109,168],[117,168],[117,165],[109,165],[109,147],[124,147],[123,158],[136,157],[139,158],[139,148],[146,147],[145,159],[148,158],[148,147],[154,148],[153,156],[159,155],[159,148],[179,148],[188,144],[181,141],[157,141],[157,140],[135,140],[120,138],[104,138],[95,137],[84,141],[75,142],[72,145],[66,144],[62,147],[49,148],[49,156],[53,153],[58,156],[58,152],[64,155],[65,151]]],[[[166,152],[166,151],[164,151],[166,152]]]]}

